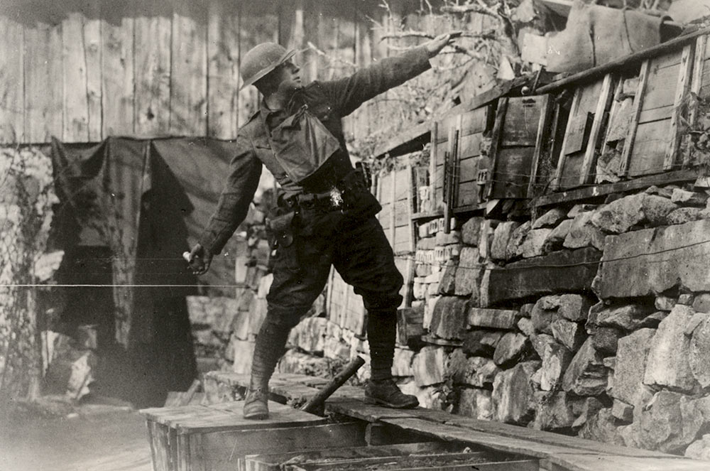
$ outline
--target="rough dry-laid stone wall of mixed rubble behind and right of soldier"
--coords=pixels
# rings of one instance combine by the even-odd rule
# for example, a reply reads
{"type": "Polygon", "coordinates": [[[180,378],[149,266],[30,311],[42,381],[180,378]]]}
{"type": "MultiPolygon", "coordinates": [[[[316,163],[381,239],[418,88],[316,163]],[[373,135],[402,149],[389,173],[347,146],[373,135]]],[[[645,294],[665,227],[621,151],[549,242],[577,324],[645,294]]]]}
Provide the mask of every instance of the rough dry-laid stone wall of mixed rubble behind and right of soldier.
{"type": "MultiPolygon", "coordinates": [[[[448,234],[419,222],[393,374],[425,407],[707,456],[707,200],[651,187],[532,220],[471,217],[448,234]]],[[[340,335],[304,320],[297,363],[282,367],[366,352],[340,335]]]]}

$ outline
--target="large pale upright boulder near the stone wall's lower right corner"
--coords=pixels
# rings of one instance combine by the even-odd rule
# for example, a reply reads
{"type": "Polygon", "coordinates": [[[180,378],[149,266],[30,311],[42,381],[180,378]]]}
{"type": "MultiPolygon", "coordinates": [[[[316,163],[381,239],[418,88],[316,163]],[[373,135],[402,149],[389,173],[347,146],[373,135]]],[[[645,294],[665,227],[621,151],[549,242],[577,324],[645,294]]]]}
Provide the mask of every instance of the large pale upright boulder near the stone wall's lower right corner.
{"type": "Polygon", "coordinates": [[[651,340],[644,384],[681,391],[691,391],[697,385],[689,363],[690,339],[684,334],[693,314],[692,308],[676,305],[661,321],[651,340]]]}

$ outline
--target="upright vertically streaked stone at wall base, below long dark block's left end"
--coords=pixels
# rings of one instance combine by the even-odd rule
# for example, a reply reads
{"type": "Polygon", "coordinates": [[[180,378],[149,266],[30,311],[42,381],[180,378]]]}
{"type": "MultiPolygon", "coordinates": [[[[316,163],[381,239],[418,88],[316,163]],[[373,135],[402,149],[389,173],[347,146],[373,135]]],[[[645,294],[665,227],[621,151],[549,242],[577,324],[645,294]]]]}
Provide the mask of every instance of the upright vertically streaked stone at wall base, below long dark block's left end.
{"type": "Polygon", "coordinates": [[[535,389],[530,377],[540,362],[518,363],[496,375],[493,381],[493,420],[504,423],[525,424],[530,421],[535,409],[532,398],[535,389]]]}

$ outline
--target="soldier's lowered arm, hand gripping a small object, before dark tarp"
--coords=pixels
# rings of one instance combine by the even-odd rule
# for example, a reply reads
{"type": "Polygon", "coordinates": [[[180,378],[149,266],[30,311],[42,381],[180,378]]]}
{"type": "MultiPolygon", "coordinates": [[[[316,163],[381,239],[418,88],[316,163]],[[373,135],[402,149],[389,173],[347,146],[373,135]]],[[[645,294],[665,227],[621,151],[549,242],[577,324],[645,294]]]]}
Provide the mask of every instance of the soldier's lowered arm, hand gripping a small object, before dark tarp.
{"type": "Polygon", "coordinates": [[[246,218],[261,177],[261,161],[256,157],[251,141],[239,134],[236,154],[229,163],[229,175],[219,195],[217,210],[190,251],[193,273],[207,273],[212,256],[219,254],[239,224],[246,218]]]}

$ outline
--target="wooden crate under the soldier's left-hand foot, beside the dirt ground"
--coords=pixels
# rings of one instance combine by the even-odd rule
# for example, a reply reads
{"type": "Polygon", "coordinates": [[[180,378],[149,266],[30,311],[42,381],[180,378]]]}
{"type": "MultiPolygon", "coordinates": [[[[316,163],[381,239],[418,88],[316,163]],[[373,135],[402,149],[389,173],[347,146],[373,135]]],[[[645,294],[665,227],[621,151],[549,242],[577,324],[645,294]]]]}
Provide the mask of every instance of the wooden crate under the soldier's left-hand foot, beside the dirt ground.
{"type": "Polygon", "coordinates": [[[327,423],[275,402],[267,420],[250,421],[241,416],[243,404],[143,409],[153,470],[242,470],[248,454],[365,443],[362,423],[327,423]]]}

